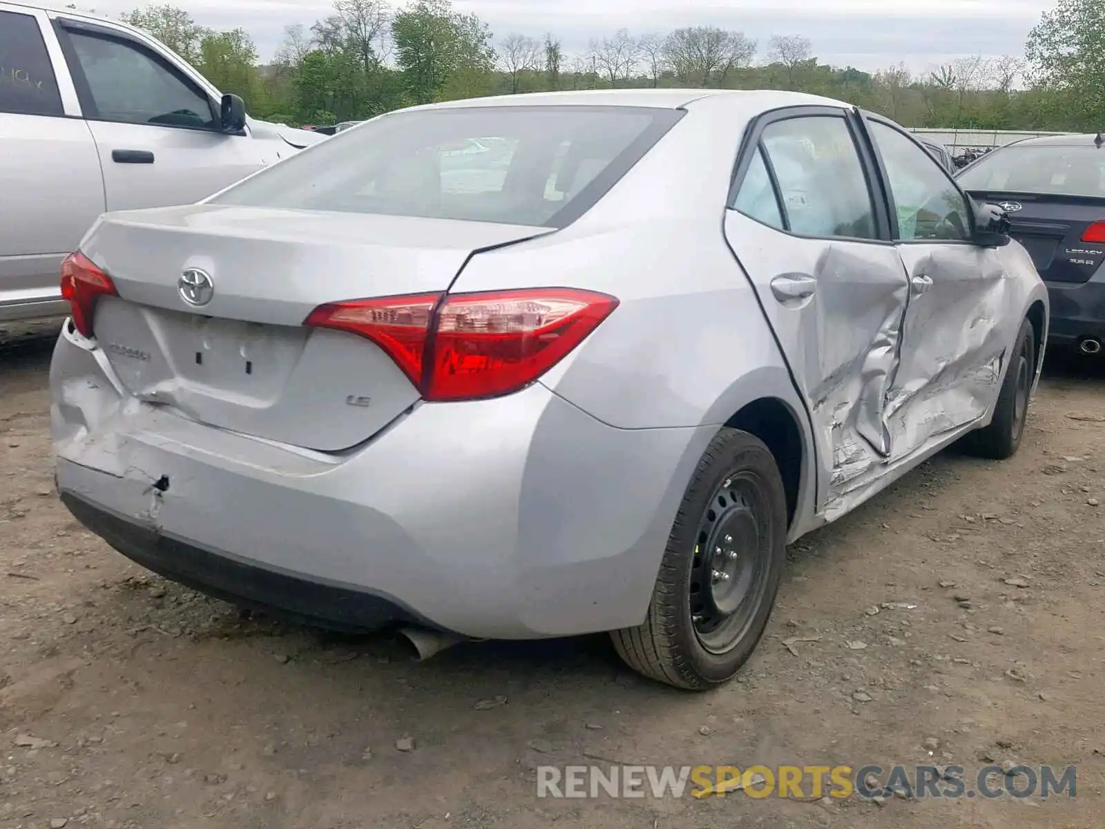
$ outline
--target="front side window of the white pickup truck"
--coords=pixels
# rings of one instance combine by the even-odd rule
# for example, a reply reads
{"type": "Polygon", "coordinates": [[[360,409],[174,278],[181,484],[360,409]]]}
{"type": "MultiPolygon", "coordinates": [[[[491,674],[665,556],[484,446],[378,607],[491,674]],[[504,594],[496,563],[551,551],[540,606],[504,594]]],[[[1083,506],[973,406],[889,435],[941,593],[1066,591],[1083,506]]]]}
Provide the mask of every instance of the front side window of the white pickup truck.
{"type": "Polygon", "coordinates": [[[87,32],[69,32],[88,83],[90,117],[122,124],[212,129],[207,95],[137,43],[87,32]]]}

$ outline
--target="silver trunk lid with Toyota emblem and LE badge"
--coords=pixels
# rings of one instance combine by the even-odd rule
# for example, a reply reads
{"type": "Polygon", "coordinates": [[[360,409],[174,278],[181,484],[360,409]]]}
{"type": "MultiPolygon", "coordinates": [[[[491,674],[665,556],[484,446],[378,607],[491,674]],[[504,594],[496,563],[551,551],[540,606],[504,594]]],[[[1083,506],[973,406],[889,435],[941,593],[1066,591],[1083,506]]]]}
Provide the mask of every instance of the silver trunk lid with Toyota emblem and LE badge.
{"type": "Polygon", "coordinates": [[[419,399],[373,343],[302,323],[340,300],[445,291],[475,251],[550,232],[441,219],[196,204],[105,216],[81,249],[118,297],[95,333],[135,397],[266,440],[334,452],[419,399]],[[181,274],[213,286],[191,307],[181,274]]]}

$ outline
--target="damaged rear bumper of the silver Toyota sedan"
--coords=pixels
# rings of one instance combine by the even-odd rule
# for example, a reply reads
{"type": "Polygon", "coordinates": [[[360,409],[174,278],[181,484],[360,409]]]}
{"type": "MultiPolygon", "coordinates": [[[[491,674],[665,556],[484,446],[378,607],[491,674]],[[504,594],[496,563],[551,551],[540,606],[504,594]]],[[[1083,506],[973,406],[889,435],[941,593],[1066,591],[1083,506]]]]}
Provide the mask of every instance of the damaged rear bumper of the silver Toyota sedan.
{"type": "Polygon", "coordinates": [[[343,628],[525,639],[639,623],[715,431],[614,429],[537,384],[422,405],[322,454],[141,403],[113,377],[66,326],[51,413],[73,514],[169,578],[343,628]]]}

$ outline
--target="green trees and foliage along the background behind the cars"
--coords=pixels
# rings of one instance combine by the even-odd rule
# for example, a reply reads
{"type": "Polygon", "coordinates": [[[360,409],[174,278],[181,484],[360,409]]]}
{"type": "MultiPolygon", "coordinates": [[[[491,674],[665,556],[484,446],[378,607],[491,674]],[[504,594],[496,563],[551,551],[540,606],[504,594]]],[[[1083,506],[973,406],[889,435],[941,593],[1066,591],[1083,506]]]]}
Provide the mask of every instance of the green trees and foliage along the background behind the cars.
{"type": "Polygon", "coordinates": [[[250,113],[290,124],[357,120],[434,101],[617,86],[788,88],[883,113],[913,127],[1105,128],[1105,0],[1057,0],[1021,56],[971,57],[914,75],[821,63],[796,36],[762,48],[741,32],[684,27],[634,36],[622,29],[565,54],[551,33],[507,34],[492,45],[478,17],[451,0],[333,0],[333,13],[285,28],[272,65],[241,29],[217,32],[169,4],[123,15],[190,61],[250,113]],[[767,61],[757,64],[758,53],[767,61]],[[1027,71],[1025,71],[1027,65],[1027,71]],[[1028,88],[1018,88],[1022,74],[1028,88]]]}

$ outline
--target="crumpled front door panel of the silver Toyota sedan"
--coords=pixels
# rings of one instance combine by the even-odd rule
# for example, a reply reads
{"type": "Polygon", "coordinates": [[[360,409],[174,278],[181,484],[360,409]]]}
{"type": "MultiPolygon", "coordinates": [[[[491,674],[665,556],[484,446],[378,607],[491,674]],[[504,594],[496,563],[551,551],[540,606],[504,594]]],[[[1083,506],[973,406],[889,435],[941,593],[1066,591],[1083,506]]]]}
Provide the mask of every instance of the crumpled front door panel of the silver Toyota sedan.
{"type": "Polygon", "coordinates": [[[912,287],[887,400],[895,459],[986,416],[1017,336],[1010,326],[1021,322],[993,249],[934,242],[898,251],[912,287]]]}

